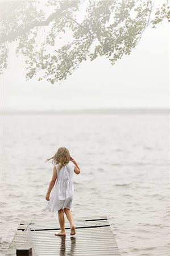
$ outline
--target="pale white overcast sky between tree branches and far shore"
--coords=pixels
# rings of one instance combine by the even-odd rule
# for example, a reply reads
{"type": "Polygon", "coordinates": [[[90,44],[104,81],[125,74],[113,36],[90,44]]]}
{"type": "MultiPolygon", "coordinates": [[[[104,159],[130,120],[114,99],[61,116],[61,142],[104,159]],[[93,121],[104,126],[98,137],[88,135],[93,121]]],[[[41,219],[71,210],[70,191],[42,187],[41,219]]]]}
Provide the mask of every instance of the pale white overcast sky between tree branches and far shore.
{"type": "Polygon", "coordinates": [[[1,79],[2,110],[168,108],[168,22],[148,28],[131,55],[115,65],[105,57],[86,61],[61,84],[26,81],[22,59],[10,46],[1,79]]]}

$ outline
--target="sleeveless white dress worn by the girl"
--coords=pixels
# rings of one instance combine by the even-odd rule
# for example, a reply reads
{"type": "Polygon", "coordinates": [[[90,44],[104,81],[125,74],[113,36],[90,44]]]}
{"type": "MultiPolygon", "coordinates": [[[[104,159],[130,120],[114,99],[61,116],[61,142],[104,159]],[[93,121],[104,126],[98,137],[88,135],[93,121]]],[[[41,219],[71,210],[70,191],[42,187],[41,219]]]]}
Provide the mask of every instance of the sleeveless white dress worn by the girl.
{"type": "Polygon", "coordinates": [[[49,194],[49,201],[46,205],[46,209],[51,210],[51,212],[64,208],[71,209],[72,207],[74,163],[70,160],[60,170],[58,166],[59,164],[55,164],[57,179],[49,194]]]}

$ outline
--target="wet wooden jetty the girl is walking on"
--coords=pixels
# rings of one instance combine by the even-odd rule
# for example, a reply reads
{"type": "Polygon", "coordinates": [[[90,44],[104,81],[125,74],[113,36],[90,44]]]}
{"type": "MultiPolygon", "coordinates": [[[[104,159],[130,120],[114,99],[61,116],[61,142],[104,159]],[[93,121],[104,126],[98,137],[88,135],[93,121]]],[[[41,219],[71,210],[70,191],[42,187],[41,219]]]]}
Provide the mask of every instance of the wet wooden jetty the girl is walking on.
{"type": "Polygon", "coordinates": [[[74,224],[75,236],[70,235],[66,218],[66,236],[55,236],[56,230],[60,229],[57,218],[22,221],[6,256],[121,255],[106,216],[74,217],[74,224]]]}

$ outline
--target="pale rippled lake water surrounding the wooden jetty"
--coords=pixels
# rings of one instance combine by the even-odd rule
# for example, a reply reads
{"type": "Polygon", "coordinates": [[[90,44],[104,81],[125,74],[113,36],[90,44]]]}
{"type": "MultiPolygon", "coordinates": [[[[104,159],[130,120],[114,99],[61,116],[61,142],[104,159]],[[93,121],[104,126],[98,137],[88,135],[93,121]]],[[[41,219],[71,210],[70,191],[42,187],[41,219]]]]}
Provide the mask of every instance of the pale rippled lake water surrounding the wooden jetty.
{"type": "Polygon", "coordinates": [[[106,215],[121,255],[168,256],[168,114],[2,115],[1,255],[20,221],[45,209],[52,163],[65,146],[74,175],[73,216],[106,215]]]}

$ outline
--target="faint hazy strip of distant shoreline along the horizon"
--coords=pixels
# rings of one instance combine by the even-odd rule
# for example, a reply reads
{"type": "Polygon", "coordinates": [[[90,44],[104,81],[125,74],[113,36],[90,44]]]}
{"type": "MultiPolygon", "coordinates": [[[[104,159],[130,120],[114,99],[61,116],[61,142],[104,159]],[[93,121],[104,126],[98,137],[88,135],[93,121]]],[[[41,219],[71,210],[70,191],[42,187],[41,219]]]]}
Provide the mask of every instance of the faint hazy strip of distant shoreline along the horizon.
{"type": "Polygon", "coordinates": [[[57,114],[169,114],[169,109],[80,109],[80,110],[1,110],[2,115],[57,115],[57,114]]]}

